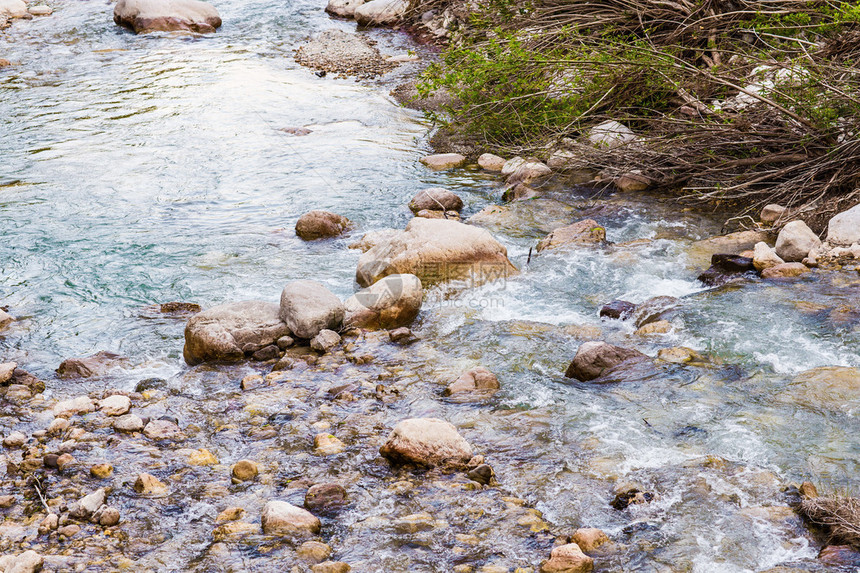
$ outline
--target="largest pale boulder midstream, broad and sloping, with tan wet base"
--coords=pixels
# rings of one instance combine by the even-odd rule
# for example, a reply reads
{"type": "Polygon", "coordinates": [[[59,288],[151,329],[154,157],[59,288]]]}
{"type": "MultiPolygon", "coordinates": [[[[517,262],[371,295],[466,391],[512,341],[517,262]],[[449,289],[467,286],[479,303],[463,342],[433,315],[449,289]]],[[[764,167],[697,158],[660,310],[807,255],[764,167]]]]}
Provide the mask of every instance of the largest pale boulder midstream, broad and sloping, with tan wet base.
{"type": "Polygon", "coordinates": [[[484,229],[446,219],[416,217],[358,259],[355,280],[369,286],[393,274],[424,284],[470,279],[479,284],[516,274],[508,251],[484,229]]]}

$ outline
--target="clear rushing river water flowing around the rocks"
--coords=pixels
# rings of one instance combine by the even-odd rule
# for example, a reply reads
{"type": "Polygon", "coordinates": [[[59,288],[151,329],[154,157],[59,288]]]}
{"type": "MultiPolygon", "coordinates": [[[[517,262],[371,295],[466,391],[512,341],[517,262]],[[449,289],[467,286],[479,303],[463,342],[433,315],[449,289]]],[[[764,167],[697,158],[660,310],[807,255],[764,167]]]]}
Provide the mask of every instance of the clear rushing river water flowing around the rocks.
{"type": "MultiPolygon", "coordinates": [[[[32,413],[5,408],[0,428],[44,429],[56,399],[133,392],[150,379],[136,410],[177,419],[188,436],[181,447],[220,460],[189,466],[187,450],[115,437],[90,414],[80,424],[94,438],[74,452],[80,471],[46,479],[71,502],[105,485],[87,468],[109,461],[123,522],[46,539],[29,517],[41,510],[30,496],[0,510],[0,551],[33,547],[51,570],[303,571],[289,543],[259,532],[213,537],[215,516],[242,506],[259,523],[266,499],[300,505],[308,484],[338,481],[351,502],[324,518],[322,539],[355,571],[536,567],[552,534],[582,526],[615,541],[598,571],[827,569],[782,490],[806,479],[856,490],[860,400],[794,377],[860,366],[860,277],[818,272],[706,290],[690,245],[719,234],[717,216],[557,182],[513,207],[514,223],[491,227],[523,273],[454,294],[429,290],[413,328],[420,342],[401,348],[369,335],[355,343],[373,355],[369,364],[340,352],[256,392],[243,393],[239,380],[265,365],[187,367],[184,322],[152,318],[145,306],[276,301],[300,278],[346,298],[359,256],[347,245],[364,231],[402,228],[418,190],[453,190],[464,216],[501,194],[488,174],[434,173],[418,162],[429,126],[388,95],[408,66],[358,83],[293,61],[310,34],[354,24],[307,0],[213,4],[225,25],[205,37],[134,36],[113,24],[112,5],[86,0],[58,0],[52,16],[0,32],[0,56],[16,63],[0,70],[0,306],[18,319],[0,337],[0,362],[47,385],[32,413]],[[312,133],[291,137],[286,127],[312,133]],[[311,209],[345,215],[358,230],[300,241],[293,225],[311,209]],[[539,238],[584,216],[616,246],[529,260],[539,238]],[[646,240],[627,243],[637,239],[646,240]],[[607,301],[659,295],[683,301],[668,335],[643,338],[626,322],[598,319],[607,301]],[[578,345],[594,337],[652,356],[686,346],[706,360],[615,384],[565,379],[578,345]],[[95,381],[57,379],[60,361],[99,350],[126,357],[124,368],[95,381]],[[443,384],[477,365],[498,374],[500,392],[480,402],[441,397],[443,384]],[[380,381],[399,395],[379,399],[380,381]],[[342,384],[354,385],[354,399],[332,401],[327,390],[342,384]],[[417,416],[455,424],[499,487],[389,468],[379,445],[398,420],[417,416]],[[312,454],[321,428],[347,452],[312,454]],[[242,458],[260,463],[258,482],[230,483],[229,464],[242,458]],[[134,494],[139,471],[171,493],[134,494]],[[610,507],[613,488],[627,482],[654,501],[610,507]],[[429,517],[418,526],[403,520],[420,513],[429,517]]],[[[366,33],[387,54],[427,56],[400,33],[366,33]]],[[[11,481],[2,487],[16,493],[11,481]]]]}

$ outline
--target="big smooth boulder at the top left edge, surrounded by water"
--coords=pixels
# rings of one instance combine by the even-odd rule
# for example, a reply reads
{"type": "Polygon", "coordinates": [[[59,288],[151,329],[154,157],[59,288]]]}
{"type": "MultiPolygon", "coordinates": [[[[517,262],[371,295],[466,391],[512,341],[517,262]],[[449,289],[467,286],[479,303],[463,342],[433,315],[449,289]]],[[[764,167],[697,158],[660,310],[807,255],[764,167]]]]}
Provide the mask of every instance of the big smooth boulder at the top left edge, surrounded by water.
{"type": "Polygon", "coordinates": [[[135,34],[179,30],[206,34],[221,26],[218,10],[200,0],[119,0],[113,21],[135,34]]]}

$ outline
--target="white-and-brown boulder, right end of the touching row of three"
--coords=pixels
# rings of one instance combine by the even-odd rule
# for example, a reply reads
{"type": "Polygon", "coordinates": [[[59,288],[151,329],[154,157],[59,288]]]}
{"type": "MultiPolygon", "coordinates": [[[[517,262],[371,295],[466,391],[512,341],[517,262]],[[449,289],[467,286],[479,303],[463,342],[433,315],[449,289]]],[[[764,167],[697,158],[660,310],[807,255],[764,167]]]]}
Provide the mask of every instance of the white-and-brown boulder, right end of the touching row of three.
{"type": "Polygon", "coordinates": [[[424,289],[415,275],[388,275],[346,299],[344,327],[392,329],[410,324],[418,311],[424,289]]]}

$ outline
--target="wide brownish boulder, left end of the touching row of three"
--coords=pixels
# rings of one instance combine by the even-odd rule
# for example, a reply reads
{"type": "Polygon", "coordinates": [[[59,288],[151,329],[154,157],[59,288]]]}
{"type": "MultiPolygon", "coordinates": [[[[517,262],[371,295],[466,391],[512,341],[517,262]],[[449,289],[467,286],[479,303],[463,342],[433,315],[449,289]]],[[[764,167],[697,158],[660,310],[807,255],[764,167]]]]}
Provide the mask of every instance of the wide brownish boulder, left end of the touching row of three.
{"type": "Polygon", "coordinates": [[[290,333],[271,302],[248,300],[222,304],[195,314],[185,325],[185,361],[234,362],[290,333]]]}

